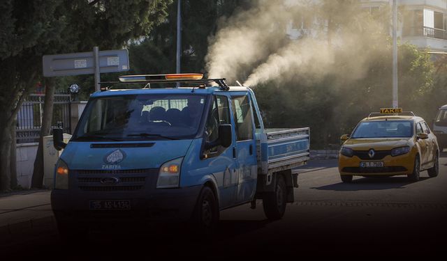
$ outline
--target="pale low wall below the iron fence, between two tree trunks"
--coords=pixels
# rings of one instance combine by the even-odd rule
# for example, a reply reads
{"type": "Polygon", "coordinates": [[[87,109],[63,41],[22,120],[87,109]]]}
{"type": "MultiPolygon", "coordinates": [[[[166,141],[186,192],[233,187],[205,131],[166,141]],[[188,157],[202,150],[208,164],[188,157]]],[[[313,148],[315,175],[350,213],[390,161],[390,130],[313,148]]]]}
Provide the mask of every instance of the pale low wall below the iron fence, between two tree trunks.
{"type": "Polygon", "coordinates": [[[38,143],[17,144],[17,183],[27,189],[31,187],[31,177],[33,176],[37,147],[38,143]]]}

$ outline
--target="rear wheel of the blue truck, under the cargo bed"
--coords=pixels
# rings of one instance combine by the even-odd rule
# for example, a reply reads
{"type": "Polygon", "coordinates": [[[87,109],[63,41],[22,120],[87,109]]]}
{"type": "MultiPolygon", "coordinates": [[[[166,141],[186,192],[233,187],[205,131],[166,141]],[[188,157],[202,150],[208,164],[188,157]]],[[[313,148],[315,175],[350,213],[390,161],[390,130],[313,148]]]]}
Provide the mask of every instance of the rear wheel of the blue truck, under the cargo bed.
{"type": "Polygon", "coordinates": [[[282,175],[277,175],[274,192],[265,193],[263,197],[264,214],[270,220],[278,220],[286,212],[286,182],[282,175]]]}

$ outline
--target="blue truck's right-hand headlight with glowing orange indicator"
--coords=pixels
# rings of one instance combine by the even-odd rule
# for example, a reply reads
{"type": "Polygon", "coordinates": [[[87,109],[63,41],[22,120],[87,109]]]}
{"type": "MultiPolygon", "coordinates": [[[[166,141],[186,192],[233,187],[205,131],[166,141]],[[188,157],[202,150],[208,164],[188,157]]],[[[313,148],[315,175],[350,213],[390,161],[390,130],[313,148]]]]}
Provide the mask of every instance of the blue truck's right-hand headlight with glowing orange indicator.
{"type": "Polygon", "coordinates": [[[180,167],[183,157],[173,159],[161,165],[159,179],[156,181],[157,189],[177,188],[180,183],[180,167]]]}

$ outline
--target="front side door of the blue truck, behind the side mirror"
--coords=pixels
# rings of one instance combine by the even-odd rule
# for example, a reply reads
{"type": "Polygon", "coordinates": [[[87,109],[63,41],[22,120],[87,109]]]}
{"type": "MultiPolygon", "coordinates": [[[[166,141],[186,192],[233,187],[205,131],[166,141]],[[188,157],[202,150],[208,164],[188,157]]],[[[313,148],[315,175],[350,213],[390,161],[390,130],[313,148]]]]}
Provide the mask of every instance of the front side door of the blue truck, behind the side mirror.
{"type": "MultiPolygon", "coordinates": [[[[226,95],[214,95],[210,113],[205,125],[207,142],[216,141],[219,137],[219,125],[231,124],[230,108],[226,95]]],[[[217,145],[204,151],[203,168],[213,173],[219,189],[219,205],[221,208],[235,204],[237,187],[237,161],[233,155],[235,147],[235,133],[233,129],[233,144],[228,148],[217,145]]]]}

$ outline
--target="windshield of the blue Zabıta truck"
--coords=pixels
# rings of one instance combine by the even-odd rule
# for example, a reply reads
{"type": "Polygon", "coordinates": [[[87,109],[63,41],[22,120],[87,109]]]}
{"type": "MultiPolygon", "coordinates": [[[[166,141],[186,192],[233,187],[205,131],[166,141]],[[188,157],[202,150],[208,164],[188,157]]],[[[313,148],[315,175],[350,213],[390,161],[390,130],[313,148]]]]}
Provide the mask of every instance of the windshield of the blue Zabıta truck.
{"type": "Polygon", "coordinates": [[[120,95],[91,100],[73,141],[193,139],[203,95],[120,95]]]}

